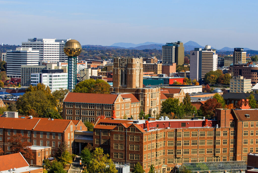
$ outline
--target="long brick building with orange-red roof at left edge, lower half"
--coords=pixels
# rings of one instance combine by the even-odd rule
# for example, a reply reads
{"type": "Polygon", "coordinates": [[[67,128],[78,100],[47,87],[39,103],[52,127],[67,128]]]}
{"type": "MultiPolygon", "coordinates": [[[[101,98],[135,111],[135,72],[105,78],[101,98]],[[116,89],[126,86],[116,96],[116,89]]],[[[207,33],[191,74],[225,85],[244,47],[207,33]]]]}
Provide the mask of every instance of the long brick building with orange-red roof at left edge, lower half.
{"type": "Polygon", "coordinates": [[[51,155],[55,155],[63,141],[67,142],[70,153],[77,153],[79,143],[75,142],[74,131],[87,130],[82,121],[25,116],[0,117],[0,127],[0,147],[4,154],[10,153],[7,140],[15,134],[28,137],[32,145],[51,147],[51,155]]]}

